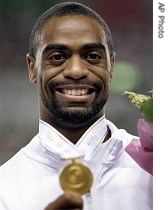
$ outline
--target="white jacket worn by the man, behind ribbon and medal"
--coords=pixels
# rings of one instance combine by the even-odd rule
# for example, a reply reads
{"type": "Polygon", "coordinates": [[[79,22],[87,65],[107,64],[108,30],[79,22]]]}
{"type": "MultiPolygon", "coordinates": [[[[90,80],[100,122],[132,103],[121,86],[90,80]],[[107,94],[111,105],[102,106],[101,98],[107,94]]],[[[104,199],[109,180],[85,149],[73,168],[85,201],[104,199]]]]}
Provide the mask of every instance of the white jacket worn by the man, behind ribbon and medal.
{"type": "MultiPolygon", "coordinates": [[[[106,121],[112,136],[88,162],[94,182],[83,195],[84,210],[152,210],[152,176],[125,152],[135,136],[106,121]]],[[[0,210],[44,210],[63,193],[62,165],[35,136],[0,167],[0,210]]]]}

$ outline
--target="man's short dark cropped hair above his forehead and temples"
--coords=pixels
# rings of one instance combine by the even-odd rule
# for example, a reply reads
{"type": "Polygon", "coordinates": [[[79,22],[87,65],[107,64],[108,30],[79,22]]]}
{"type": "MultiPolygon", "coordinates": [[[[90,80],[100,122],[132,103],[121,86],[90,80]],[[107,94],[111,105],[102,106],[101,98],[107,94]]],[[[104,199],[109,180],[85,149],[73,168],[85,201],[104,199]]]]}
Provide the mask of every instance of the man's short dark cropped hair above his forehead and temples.
{"type": "Polygon", "coordinates": [[[102,17],[100,17],[100,15],[97,14],[95,11],[93,11],[91,8],[83,4],[80,4],[77,2],[64,2],[64,3],[56,4],[50,9],[46,10],[37,19],[32,29],[30,40],[29,40],[29,53],[34,58],[37,52],[37,46],[40,40],[39,37],[40,37],[42,27],[44,26],[44,23],[52,17],[61,17],[61,16],[67,16],[67,15],[83,15],[83,16],[87,16],[96,20],[105,32],[109,53],[110,55],[112,55],[113,53],[112,35],[111,35],[109,27],[107,26],[106,22],[102,19],[102,17]]]}

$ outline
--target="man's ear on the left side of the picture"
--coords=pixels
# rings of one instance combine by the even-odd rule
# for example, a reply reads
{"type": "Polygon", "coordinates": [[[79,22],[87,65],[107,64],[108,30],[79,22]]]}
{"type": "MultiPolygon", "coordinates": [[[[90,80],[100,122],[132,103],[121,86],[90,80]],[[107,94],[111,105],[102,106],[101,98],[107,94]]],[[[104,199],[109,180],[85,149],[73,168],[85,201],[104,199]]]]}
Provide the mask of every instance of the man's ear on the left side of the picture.
{"type": "Polygon", "coordinates": [[[35,68],[35,59],[28,53],[26,55],[27,67],[29,72],[29,79],[32,84],[37,83],[37,73],[35,68]]]}

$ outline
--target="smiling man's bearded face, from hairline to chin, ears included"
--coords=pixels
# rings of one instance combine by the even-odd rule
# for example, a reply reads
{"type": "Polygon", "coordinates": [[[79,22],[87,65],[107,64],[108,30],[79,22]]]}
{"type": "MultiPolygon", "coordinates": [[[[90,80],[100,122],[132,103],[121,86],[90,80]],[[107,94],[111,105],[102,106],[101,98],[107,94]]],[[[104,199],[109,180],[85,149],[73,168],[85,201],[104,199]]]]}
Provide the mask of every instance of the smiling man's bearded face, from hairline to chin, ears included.
{"type": "Polygon", "coordinates": [[[114,58],[96,21],[83,16],[50,19],[32,62],[29,73],[38,83],[42,116],[80,124],[104,114],[114,58]]]}

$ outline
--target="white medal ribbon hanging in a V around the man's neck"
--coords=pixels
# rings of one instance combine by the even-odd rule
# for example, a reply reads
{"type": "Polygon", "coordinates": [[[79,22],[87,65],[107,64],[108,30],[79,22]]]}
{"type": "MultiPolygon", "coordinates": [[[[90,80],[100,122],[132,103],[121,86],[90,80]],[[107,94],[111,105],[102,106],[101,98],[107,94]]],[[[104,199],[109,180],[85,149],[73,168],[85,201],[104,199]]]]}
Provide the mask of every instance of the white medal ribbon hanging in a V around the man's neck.
{"type": "Polygon", "coordinates": [[[103,115],[79,139],[76,144],[70,142],[48,123],[40,119],[39,137],[43,146],[52,153],[59,154],[63,159],[73,159],[84,156],[88,161],[95,154],[107,134],[107,125],[103,115]]]}

